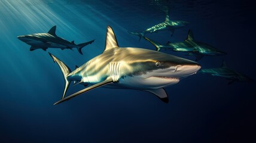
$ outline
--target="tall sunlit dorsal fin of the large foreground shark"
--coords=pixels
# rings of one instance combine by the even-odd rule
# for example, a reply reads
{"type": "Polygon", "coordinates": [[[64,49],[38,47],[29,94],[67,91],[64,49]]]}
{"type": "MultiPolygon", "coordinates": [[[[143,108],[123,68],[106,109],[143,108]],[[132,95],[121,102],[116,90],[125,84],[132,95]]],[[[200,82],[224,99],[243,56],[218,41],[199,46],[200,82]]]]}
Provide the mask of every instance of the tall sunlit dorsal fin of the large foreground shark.
{"type": "Polygon", "coordinates": [[[115,38],[115,33],[110,26],[106,29],[106,43],[104,51],[112,48],[118,48],[117,39],[115,38]]]}

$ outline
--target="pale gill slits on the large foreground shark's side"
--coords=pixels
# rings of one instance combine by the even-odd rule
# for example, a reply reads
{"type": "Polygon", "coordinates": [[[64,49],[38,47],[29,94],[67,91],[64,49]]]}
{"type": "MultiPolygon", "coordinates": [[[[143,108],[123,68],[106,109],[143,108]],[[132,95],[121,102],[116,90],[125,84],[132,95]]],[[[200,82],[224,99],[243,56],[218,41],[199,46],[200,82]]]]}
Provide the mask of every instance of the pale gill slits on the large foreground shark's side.
{"type": "Polygon", "coordinates": [[[109,63],[109,72],[113,82],[117,82],[120,78],[120,62],[109,63]]]}

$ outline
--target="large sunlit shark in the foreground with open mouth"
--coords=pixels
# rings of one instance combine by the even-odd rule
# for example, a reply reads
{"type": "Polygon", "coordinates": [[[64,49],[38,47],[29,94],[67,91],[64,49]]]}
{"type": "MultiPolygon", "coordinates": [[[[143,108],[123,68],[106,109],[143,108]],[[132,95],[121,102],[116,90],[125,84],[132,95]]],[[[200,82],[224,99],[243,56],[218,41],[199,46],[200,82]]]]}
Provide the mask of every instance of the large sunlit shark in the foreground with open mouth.
{"type": "Polygon", "coordinates": [[[200,69],[198,63],[174,55],[142,48],[120,48],[110,26],[107,27],[103,53],[74,71],[54,55],[50,56],[59,65],[66,82],[62,100],[55,104],[100,86],[147,91],[168,102],[163,88],[178,83],[200,69]],[[64,98],[71,82],[89,87],[64,98]]]}

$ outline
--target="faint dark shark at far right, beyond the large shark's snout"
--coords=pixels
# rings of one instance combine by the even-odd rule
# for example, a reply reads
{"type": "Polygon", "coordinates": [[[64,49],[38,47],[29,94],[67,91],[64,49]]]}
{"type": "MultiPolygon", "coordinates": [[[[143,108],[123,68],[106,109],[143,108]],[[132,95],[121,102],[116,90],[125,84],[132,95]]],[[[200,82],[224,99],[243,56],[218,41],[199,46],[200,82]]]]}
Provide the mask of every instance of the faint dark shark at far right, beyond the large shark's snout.
{"type": "Polygon", "coordinates": [[[211,76],[224,77],[225,79],[230,80],[230,82],[228,82],[228,85],[230,85],[235,81],[236,82],[253,82],[254,81],[250,77],[245,76],[242,73],[239,73],[237,71],[234,71],[228,68],[227,65],[225,64],[225,61],[223,61],[223,65],[219,68],[201,69],[198,71],[198,73],[209,74],[211,76]]]}

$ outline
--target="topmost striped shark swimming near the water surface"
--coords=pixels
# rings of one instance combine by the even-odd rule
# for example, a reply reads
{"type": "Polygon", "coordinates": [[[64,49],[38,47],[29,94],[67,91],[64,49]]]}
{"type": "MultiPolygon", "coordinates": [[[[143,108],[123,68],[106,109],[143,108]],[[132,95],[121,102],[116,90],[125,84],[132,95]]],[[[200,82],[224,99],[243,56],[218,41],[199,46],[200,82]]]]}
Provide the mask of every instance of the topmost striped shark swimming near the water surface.
{"type": "Polygon", "coordinates": [[[186,21],[170,20],[169,13],[167,12],[166,18],[162,23],[156,24],[155,26],[152,26],[152,27],[144,30],[143,32],[129,32],[129,31],[128,32],[132,35],[139,36],[139,40],[141,40],[141,38],[144,37],[145,34],[147,34],[147,33],[154,33],[154,32],[159,32],[159,31],[163,31],[163,30],[170,30],[170,32],[172,32],[172,35],[173,35],[175,29],[182,28],[182,27],[186,26],[187,24],[189,24],[189,23],[186,21]]]}

